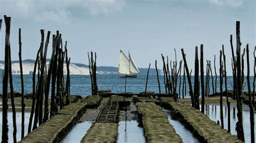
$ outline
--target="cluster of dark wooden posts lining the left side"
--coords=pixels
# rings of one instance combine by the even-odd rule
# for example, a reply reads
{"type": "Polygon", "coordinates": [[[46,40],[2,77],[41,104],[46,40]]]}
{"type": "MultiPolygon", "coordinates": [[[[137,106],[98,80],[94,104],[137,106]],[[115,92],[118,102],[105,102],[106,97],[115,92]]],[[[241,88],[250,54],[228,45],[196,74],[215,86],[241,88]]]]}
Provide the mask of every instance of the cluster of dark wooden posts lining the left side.
{"type": "MultiPolygon", "coordinates": [[[[0,20],[1,21],[1,20],[0,20]]],[[[5,21],[5,65],[3,76],[3,127],[2,127],[2,142],[8,142],[8,80],[10,83],[10,97],[12,106],[12,121],[14,126],[13,138],[14,142],[17,142],[16,133],[16,110],[14,102],[14,88],[12,84],[11,73],[11,49],[10,49],[10,27],[11,17],[4,16],[5,21]]],[[[19,28],[19,65],[21,70],[21,86],[22,86],[22,133],[21,138],[24,138],[24,83],[23,83],[23,69],[22,69],[22,42],[21,42],[21,28],[19,28]]],[[[67,41],[63,48],[62,34],[57,31],[56,35],[52,35],[52,55],[49,62],[49,67],[46,66],[46,53],[48,50],[50,31],[46,35],[44,41],[44,30],[41,30],[41,44],[39,46],[35,66],[32,75],[32,106],[29,118],[28,133],[31,130],[35,130],[37,125],[41,125],[49,119],[49,117],[55,116],[58,109],[62,109],[65,105],[69,105],[70,95],[70,58],[68,58],[67,41]],[[66,62],[67,76],[66,83],[64,83],[64,60],[66,62]],[[37,83],[36,83],[37,73],[37,83]],[[49,92],[51,84],[51,108],[49,110],[49,92]],[[64,98],[66,98],[64,100],[64,98]],[[44,113],[43,113],[43,100],[44,113]],[[33,121],[33,126],[32,126],[33,121]]]]}

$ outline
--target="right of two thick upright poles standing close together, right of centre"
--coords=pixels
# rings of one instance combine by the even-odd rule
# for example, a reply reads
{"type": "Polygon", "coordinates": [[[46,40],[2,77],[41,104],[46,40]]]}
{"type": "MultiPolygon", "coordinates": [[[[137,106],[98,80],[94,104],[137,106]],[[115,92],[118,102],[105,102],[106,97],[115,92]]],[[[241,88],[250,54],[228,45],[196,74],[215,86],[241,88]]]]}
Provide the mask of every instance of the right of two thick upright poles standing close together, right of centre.
{"type": "Polygon", "coordinates": [[[200,45],[201,112],[205,112],[204,45],[200,45]]]}

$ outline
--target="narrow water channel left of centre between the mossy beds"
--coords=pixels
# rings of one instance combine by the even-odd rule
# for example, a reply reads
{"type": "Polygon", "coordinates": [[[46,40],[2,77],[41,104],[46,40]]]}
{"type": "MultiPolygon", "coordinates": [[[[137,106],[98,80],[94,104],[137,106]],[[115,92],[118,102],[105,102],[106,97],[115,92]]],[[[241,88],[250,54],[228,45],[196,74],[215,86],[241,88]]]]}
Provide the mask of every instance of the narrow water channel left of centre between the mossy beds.
{"type": "Polygon", "coordinates": [[[92,121],[77,123],[61,142],[80,142],[91,125],[92,121]]]}

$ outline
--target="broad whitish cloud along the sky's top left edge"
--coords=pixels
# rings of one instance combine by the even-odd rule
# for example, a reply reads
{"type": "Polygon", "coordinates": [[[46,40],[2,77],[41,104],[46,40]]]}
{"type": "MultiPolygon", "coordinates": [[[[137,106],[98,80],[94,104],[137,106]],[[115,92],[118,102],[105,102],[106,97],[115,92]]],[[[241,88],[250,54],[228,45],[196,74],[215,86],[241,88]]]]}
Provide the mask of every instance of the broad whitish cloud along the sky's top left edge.
{"type": "MultiPolygon", "coordinates": [[[[89,15],[107,15],[123,9],[124,0],[0,0],[0,12],[16,18],[31,18],[36,22],[68,22],[77,9],[89,15]]],[[[81,15],[79,13],[79,15],[81,15]]],[[[83,13],[84,15],[84,13],[83,13]]]]}

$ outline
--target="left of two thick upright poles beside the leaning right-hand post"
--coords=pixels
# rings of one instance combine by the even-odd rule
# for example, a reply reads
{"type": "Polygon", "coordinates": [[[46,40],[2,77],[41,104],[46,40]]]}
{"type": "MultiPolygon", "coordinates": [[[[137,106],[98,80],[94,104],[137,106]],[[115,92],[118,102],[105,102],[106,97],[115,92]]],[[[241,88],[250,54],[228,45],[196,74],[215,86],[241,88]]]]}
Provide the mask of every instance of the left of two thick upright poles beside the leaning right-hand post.
{"type": "Polygon", "coordinates": [[[196,46],[194,58],[194,101],[195,108],[200,110],[199,106],[199,60],[198,60],[198,47],[196,46]]]}

